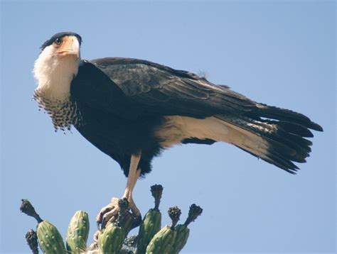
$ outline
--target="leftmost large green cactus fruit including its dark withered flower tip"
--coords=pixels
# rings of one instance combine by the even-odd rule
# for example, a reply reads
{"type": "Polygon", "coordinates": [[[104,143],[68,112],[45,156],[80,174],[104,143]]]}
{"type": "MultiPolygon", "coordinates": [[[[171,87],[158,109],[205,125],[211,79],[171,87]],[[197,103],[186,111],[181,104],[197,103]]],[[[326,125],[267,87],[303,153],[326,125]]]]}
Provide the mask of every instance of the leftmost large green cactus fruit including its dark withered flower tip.
{"type": "Polygon", "coordinates": [[[62,236],[60,232],[58,232],[58,228],[56,228],[49,221],[43,221],[41,217],[36,213],[34,207],[31,202],[27,199],[22,199],[22,204],[20,206],[20,210],[27,214],[28,216],[32,216],[38,221],[38,226],[36,228],[36,235],[38,236],[38,243],[43,251],[46,254],[65,254],[67,253],[65,250],[65,245],[63,243],[62,236]]]}

